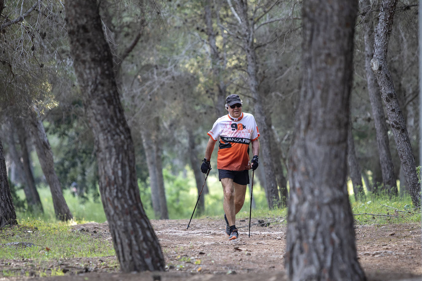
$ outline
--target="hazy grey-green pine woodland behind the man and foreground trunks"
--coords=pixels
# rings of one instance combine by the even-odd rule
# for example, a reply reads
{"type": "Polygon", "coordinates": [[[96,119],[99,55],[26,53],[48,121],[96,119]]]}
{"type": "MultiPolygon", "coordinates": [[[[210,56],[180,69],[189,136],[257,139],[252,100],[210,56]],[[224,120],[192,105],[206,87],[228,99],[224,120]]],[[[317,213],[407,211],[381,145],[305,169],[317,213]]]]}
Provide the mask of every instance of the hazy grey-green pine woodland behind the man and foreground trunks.
{"type": "MultiPolygon", "coordinates": [[[[42,130],[46,136],[55,134],[60,139],[55,167],[52,160],[42,161],[50,163],[43,165],[44,174],[54,174],[53,169],[58,174],[54,183],[54,176],[46,177],[50,187],[57,186],[57,190],[76,182],[80,190],[95,192],[98,175],[94,137],[88,130],[80,90],[75,87],[63,5],[23,3],[21,8],[21,1],[11,3],[14,5],[3,5],[2,9],[3,142],[13,163],[10,177],[17,182],[15,174],[19,175],[27,198],[31,198],[27,204],[38,204],[39,208],[37,195],[31,193],[35,189],[28,157],[33,147],[45,147],[32,145],[37,143],[36,132],[41,130],[41,139],[42,130]],[[16,50],[20,50],[19,55],[16,50]],[[43,123],[38,129],[33,123],[30,130],[28,123],[35,119],[43,123]]],[[[287,155],[300,91],[301,2],[259,1],[241,6],[245,4],[99,4],[116,83],[134,139],[137,177],[143,182],[149,177],[156,217],[168,217],[163,166],[176,172],[188,164],[200,188],[202,176],[197,161],[203,153],[203,135],[213,120],[224,114],[221,104],[231,93],[242,96],[245,110],[258,116],[260,131],[265,132],[264,169],[258,178],[268,206],[287,205],[287,155]],[[145,165],[147,169],[140,168],[145,165]]],[[[349,162],[349,174],[356,196],[362,193],[360,175],[370,192],[386,190],[396,195],[396,179],[400,179],[400,195],[408,193],[400,150],[370,65],[379,5],[377,1],[361,1],[355,27],[353,145],[349,145],[355,151],[349,152],[349,158],[355,160],[349,162]]],[[[419,149],[417,64],[411,59],[417,56],[416,10],[414,1],[399,3],[387,57],[414,155],[419,149]]],[[[44,159],[42,148],[36,150],[44,159]]]]}

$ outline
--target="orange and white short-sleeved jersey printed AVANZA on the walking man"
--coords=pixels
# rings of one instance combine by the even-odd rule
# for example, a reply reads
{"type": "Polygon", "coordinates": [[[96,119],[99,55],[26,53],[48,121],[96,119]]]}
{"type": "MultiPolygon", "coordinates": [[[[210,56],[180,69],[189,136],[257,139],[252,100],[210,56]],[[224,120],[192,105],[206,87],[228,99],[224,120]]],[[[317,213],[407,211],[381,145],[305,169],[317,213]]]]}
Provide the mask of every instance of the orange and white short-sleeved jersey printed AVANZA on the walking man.
{"type": "Polygon", "coordinates": [[[242,112],[237,120],[228,114],[218,118],[208,132],[215,141],[220,140],[217,168],[231,171],[251,169],[249,143],[260,136],[254,115],[242,112]]]}

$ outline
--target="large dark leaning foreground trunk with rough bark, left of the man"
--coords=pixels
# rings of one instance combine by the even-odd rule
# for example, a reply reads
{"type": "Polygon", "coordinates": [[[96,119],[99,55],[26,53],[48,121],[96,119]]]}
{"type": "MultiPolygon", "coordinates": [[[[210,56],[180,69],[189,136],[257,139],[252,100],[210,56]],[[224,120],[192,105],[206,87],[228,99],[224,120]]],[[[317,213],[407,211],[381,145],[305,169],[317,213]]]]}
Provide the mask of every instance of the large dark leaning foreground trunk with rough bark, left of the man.
{"type": "Polygon", "coordinates": [[[161,247],[139,195],[133,140],[96,1],[66,1],[65,8],[70,52],[95,136],[101,200],[120,268],[164,270],[161,247]]]}

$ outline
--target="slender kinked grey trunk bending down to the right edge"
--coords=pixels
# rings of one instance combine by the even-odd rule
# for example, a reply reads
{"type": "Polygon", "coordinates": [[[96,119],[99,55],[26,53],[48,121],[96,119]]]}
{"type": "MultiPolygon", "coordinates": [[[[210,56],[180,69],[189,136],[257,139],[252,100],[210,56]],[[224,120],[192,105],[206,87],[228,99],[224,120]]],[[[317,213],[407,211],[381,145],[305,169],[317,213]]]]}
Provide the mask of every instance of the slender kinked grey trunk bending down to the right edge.
{"type": "Polygon", "coordinates": [[[420,184],[418,183],[416,174],[416,161],[408,136],[406,121],[400,110],[394,83],[387,64],[388,41],[390,40],[396,3],[397,0],[383,0],[381,3],[379,21],[375,31],[374,54],[371,60],[371,69],[375,74],[376,81],[381,89],[381,96],[384,100],[388,119],[390,120],[392,133],[413,205],[419,207],[420,184]]]}

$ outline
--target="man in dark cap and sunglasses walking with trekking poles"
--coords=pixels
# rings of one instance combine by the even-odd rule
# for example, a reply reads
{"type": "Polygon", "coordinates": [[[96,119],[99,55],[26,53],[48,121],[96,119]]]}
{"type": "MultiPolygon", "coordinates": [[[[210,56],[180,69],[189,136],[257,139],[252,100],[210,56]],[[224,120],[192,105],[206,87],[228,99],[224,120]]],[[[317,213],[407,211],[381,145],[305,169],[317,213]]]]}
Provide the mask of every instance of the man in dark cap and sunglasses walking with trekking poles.
{"type": "Polygon", "coordinates": [[[260,133],[252,114],[242,112],[243,101],[232,94],[226,98],[227,115],[218,118],[211,131],[205,150],[201,171],[206,174],[211,169],[211,154],[219,139],[217,154],[218,178],[223,186],[223,209],[226,221],[226,234],[229,240],[238,238],[235,225],[236,214],[245,201],[246,185],[249,183],[249,169],[258,167],[260,153],[260,133]],[[252,142],[252,164],[249,162],[249,143],[252,142]]]}

